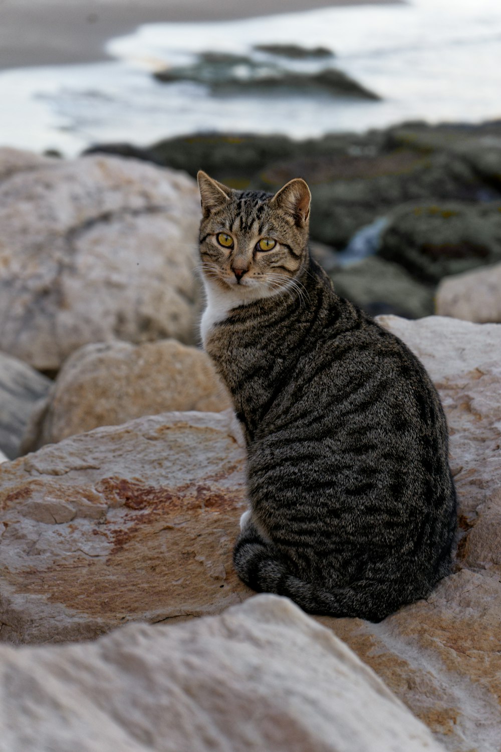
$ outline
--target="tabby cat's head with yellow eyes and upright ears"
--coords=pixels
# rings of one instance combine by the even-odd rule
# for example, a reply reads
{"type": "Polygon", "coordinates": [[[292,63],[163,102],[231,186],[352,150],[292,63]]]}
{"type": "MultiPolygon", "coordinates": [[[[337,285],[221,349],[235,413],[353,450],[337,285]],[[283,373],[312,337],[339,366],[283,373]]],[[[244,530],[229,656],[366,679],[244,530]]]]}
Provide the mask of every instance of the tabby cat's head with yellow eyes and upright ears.
{"type": "Polygon", "coordinates": [[[308,256],[309,188],[291,180],[274,196],[228,188],[198,173],[200,253],[207,281],[243,299],[294,284],[308,256]]]}

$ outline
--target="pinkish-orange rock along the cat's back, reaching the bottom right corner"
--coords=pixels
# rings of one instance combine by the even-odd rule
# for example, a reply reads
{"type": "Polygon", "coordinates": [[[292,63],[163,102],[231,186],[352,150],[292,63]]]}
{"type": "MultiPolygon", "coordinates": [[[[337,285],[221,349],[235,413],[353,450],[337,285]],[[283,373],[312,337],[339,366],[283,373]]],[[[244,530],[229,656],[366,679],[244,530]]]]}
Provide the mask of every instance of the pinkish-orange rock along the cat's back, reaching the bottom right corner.
{"type": "Polygon", "coordinates": [[[501,326],[380,317],[426,365],[451,433],[459,497],[454,572],[380,624],[321,623],[454,752],[497,752],[501,733],[501,326]]]}

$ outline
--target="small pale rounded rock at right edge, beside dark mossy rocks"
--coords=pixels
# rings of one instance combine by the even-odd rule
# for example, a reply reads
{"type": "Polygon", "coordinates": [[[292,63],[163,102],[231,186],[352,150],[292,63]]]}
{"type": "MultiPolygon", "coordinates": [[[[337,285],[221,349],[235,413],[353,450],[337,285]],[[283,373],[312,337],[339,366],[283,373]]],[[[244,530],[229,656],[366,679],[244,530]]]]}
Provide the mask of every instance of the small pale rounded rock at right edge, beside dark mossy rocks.
{"type": "Polygon", "coordinates": [[[436,312],[478,323],[501,322],[501,264],[442,279],[436,312]]]}

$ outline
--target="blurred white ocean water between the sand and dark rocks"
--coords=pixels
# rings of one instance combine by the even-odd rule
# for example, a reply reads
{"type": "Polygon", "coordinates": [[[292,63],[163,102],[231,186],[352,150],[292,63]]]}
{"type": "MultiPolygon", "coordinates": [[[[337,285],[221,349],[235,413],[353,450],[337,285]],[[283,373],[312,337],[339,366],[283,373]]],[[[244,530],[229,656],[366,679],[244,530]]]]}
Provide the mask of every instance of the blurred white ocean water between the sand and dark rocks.
{"type": "MultiPolygon", "coordinates": [[[[501,118],[501,0],[409,0],[266,18],[141,26],[110,40],[110,62],[0,73],[0,144],[68,156],[89,144],[151,144],[189,132],[364,131],[403,120],[501,118]],[[216,96],[200,83],[161,83],[153,71],[198,53],[272,61],[255,44],[327,47],[332,60],[282,59],[291,71],[340,68],[380,102],[319,92],[216,96]]],[[[276,59],[276,58],[274,58],[276,59]]]]}

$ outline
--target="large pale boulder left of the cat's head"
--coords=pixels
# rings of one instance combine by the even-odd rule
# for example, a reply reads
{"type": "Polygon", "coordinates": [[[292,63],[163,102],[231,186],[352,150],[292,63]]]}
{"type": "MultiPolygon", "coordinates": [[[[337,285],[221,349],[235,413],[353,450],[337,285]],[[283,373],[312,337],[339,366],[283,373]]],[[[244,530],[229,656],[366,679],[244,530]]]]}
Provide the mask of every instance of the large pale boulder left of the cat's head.
{"type": "Polygon", "coordinates": [[[131,159],[46,159],[10,174],[0,349],[56,371],[89,341],[193,341],[199,203],[186,175],[131,159]]]}

